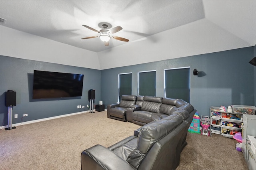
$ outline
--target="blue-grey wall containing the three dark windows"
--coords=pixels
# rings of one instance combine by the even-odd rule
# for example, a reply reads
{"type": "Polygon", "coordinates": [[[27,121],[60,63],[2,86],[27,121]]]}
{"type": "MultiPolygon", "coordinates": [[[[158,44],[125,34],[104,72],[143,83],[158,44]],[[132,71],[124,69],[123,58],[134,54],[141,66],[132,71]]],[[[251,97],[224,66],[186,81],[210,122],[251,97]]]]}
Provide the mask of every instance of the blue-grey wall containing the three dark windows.
{"type": "Polygon", "coordinates": [[[254,47],[246,47],[105,69],[101,71],[101,99],[105,106],[118,101],[118,73],[132,72],[132,94],[137,95],[137,73],[149,70],[156,70],[156,96],[163,97],[164,69],[190,67],[190,103],[199,115],[209,116],[210,106],[255,105],[256,74],[248,63],[253,56],[254,47]],[[199,71],[197,76],[194,69],[199,71]]]}

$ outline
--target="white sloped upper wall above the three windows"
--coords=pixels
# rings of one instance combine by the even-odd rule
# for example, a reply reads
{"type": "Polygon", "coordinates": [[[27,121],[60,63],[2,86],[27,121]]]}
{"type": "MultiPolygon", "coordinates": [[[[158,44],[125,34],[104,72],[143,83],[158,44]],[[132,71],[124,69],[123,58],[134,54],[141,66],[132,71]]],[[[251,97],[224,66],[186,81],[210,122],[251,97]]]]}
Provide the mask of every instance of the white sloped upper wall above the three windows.
{"type": "Polygon", "coordinates": [[[100,69],[109,69],[248,46],[248,42],[202,19],[98,52],[98,57],[100,69]]]}

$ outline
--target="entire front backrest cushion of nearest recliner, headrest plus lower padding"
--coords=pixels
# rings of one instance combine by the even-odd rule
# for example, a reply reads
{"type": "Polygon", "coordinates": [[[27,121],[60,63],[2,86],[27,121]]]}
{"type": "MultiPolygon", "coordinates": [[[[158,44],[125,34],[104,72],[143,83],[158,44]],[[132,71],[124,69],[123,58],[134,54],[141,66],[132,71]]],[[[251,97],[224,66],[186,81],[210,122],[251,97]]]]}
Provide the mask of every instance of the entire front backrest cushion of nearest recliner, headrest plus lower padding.
{"type": "Polygon", "coordinates": [[[182,122],[182,116],[173,114],[160,121],[144,125],[138,135],[137,147],[130,153],[127,162],[134,166],[134,168],[138,168],[154,143],[175,130],[182,122]]]}

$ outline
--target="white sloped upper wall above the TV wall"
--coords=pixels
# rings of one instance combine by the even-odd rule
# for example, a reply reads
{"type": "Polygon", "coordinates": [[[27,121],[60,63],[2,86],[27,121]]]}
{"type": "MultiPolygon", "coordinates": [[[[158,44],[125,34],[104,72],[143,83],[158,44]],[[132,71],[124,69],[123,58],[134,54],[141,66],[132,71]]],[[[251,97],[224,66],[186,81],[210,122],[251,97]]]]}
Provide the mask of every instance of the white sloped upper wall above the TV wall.
{"type": "Polygon", "coordinates": [[[100,69],[96,52],[0,25],[0,55],[100,69]]]}

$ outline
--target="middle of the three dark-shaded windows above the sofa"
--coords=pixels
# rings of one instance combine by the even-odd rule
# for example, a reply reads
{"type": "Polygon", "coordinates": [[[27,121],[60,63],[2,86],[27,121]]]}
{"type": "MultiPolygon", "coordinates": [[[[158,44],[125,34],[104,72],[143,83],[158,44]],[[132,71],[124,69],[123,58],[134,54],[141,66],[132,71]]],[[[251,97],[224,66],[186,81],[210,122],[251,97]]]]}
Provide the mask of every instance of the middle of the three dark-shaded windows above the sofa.
{"type": "Polygon", "coordinates": [[[138,95],[156,95],[156,71],[138,72],[138,95]]]}

